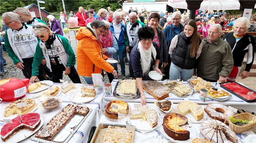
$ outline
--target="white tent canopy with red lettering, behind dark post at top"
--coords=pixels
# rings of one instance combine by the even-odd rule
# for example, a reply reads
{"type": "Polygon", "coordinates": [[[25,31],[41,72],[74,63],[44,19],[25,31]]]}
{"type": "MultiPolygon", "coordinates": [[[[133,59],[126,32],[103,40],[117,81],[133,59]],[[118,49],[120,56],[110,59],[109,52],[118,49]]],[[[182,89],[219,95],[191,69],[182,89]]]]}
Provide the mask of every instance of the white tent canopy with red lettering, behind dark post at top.
{"type": "MultiPolygon", "coordinates": [[[[168,5],[175,8],[187,9],[186,0],[168,0],[168,5]]],[[[256,6],[256,5],[255,5],[256,6]]],[[[238,10],[238,0],[204,0],[199,9],[203,10],[238,10]]]]}

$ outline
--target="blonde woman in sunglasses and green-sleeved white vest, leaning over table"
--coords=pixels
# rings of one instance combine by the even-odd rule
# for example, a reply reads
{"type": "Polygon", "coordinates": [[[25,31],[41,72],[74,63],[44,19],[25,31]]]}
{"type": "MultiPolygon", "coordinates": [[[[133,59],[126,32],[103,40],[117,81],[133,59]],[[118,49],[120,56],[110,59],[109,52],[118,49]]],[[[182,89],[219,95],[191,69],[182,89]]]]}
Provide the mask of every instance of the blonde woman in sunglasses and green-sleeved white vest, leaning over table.
{"type": "Polygon", "coordinates": [[[65,75],[68,75],[73,83],[81,83],[74,67],[75,54],[68,40],[61,35],[53,34],[50,28],[42,23],[34,25],[33,32],[41,40],[36,46],[30,81],[36,81],[38,65],[44,56],[46,64],[52,72],[53,82],[60,82],[59,79],[62,79],[63,71],[65,71],[65,75]]]}

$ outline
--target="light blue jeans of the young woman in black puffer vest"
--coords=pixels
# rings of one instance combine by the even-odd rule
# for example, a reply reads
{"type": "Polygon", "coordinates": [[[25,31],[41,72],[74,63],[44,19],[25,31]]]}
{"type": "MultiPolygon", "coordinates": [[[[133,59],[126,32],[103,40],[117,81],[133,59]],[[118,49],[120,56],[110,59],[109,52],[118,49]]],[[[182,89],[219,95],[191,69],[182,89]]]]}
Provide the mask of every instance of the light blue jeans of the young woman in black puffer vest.
{"type": "Polygon", "coordinates": [[[176,80],[180,78],[181,81],[187,81],[193,76],[193,73],[194,73],[194,68],[190,70],[183,69],[171,62],[169,79],[176,80]]]}

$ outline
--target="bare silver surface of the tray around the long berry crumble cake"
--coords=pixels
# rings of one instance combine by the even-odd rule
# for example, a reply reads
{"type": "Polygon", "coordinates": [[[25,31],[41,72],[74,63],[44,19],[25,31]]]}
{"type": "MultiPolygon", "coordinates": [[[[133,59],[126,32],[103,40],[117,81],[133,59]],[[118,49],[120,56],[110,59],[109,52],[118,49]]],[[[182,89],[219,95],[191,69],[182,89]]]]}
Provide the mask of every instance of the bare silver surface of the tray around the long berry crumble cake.
{"type": "MultiPolygon", "coordinates": [[[[65,108],[65,107],[64,107],[65,108]]],[[[59,112],[61,112],[62,111],[62,109],[59,111],[59,112]]],[[[58,112],[58,113],[59,113],[58,112]]],[[[53,137],[53,139],[51,140],[51,141],[48,141],[48,140],[45,140],[45,139],[41,139],[41,138],[36,138],[35,137],[35,135],[36,135],[36,133],[34,134],[34,135],[32,135],[31,137],[30,137],[30,139],[31,140],[34,140],[34,141],[38,141],[38,142],[44,142],[44,143],[56,143],[56,142],[61,142],[61,143],[66,143],[66,142],[68,142],[71,138],[72,138],[72,136],[73,136],[73,134],[78,130],[78,128],[83,124],[83,122],[86,120],[86,118],[91,114],[91,112],[92,112],[92,109],[89,109],[89,112],[87,113],[87,115],[86,116],[84,116],[84,115],[81,115],[81,114],[75,114],[68,122],[67,122],[67,124],[53,137]],[[71,120],[76,120],[75,122],[77,123],[78,122],[78,124],[76,125],[76,127],[74,128],[74,131],[73,131],[73,134],[72,134],[72,129],[69,127],[69,125],[70,124],[72,124],[72,122],[70,122],[71,120]]],[[[57,113],[57,114],[58,114],[57,113]]],[[[57,115],[56,114],[56,115],[57,115]]],[[[55,115],[54,115],[55,116],[55,115]]],[[[51,119],[48,121],[48,122],[50,122],[51,121],[51,119]]],[[[44,125],[46,125],[48,122],[46,122],[44,125]]],[[[43,126],[44,126],[43,125],[43,126]]],[[[42,127],[43,127],[42,126],[42,127]]]]}

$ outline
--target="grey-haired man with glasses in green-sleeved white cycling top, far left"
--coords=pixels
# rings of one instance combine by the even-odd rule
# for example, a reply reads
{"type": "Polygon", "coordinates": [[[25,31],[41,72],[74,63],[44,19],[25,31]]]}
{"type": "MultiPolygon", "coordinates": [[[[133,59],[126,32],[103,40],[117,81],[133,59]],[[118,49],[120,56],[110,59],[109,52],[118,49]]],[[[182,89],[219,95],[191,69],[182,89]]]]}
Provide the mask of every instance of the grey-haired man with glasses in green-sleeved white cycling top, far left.
{"type": "MultiPolygon", "coordinates": [[[[32,26],[21,23],[20,16],[14,12],[2,14],[3,22],[10,28],[6,30],[4,46],[13,63],[21,69],[25,78],[30,79],[32,73],[33,57],[38,39],[33,35],[32,26]],[[17,41],[17,35],[22,35],[22,41],[17,41]],[[29,38],[28,36],[29,35],[29,38]]],[[[20,37],[20,36],[19,36],[20,37]]],[[[44,60],[45,61],[45,60],[44,60]]],[[[43,61],[42,61],[43,62],[43,61]]],[[[43,65],[39,66],[39,80],[46,80],[43,65]]]]}

